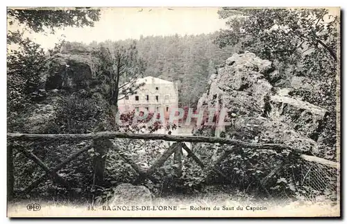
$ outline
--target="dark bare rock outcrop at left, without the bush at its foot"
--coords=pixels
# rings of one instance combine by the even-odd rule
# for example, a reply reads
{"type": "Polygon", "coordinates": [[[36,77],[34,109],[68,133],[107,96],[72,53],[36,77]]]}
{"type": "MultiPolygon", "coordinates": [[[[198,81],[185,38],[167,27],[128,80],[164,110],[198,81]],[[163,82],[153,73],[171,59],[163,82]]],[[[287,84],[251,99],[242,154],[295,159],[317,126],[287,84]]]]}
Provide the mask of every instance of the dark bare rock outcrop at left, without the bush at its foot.
{"type": "Polygon", "coordinates": [[[103,78],[97,76],[100,74],[99,64],[91,49],[77,51],[65,47],[60,53],[49,57],[48,69],[41,76],[42,87],[38,93],[42,97],[38,98],[37,103],[27,112],[24,118],[26,120],[24,130],[20,130],[21,132],[54,132],[55,112],[61,109],[59,103],[69,101],[71,98],[76,100],[82,98],[82,101],[95,99],[94,107],[100,107],[100,111],[103,112],[108,110],[106,98],[109,86],[103,78]]]}

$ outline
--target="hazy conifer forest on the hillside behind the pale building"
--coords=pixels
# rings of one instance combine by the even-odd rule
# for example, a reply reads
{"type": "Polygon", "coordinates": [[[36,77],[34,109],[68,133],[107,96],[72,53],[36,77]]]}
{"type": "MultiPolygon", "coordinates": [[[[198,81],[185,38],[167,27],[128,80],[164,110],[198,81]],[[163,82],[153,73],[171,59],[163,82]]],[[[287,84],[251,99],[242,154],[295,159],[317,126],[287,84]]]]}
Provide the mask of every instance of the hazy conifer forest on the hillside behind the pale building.
{"type": "Polygon", "coordinates": [[[214,43],[218,35],[218,32],[185,36],[176,34],[117,42],[108,40],[90,44],[78,42],[65,44],[68,45],[68,49],[87,47],[98,49],[100,46],[112,49],[134,44],[139,58],[142,58],[146,64],[142,76],[153,76],[178,83],[179,105],[196,107],[198,98],[206,90],[210,74],[214,74],[216,67],[237,51],[237,45],[219,48],[214,43]]]}

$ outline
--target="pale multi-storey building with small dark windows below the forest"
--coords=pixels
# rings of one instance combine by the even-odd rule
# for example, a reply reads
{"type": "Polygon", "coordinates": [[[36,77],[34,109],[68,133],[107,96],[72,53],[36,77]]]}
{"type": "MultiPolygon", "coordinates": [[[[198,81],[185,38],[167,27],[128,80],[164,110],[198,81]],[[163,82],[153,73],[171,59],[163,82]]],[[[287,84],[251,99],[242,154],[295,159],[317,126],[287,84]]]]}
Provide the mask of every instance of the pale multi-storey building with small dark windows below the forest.
{"type": "Polygon", "coordinates": [[[173,108],[178,108],[177,83],[169,82],[160,78],[147,76],[139,78],[137,85],[144,83],[137,93],[126,96],[118,101],[120,111],[149,111],[158,112],[164,110],[168,118],[173,108]]]}

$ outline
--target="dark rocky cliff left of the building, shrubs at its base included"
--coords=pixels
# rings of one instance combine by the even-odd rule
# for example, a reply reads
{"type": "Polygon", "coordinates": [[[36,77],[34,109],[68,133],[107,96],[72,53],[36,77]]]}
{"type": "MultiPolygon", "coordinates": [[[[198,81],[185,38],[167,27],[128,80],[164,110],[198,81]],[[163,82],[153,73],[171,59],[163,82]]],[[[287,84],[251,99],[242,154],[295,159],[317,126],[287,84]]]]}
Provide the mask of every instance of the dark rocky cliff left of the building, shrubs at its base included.
{"type": "Polygon", "coordinates": [[[75,50],[65,47],[49,55],[40,97],[26,112],[22,132],[92,132],[107,119],[109,86],[98,76],[98,60],[92,49],[75,50]]]}

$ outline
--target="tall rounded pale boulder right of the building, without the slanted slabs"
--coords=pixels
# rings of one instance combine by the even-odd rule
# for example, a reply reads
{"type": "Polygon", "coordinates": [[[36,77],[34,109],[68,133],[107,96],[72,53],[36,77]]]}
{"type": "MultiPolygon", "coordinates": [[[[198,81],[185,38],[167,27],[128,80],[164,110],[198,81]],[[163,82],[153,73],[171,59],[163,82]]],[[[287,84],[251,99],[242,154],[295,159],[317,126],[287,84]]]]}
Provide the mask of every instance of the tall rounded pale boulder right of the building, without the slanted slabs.
{"type": "Polygon", "coordinates": [[[254,53],[234,54],[226,66],[210,77],[208,93],[198,101],[198,107],[226,107],[236,116],[261,114],[264,97],[273,88],[264,78],[272,70],[269,60],[254,53]]]}

